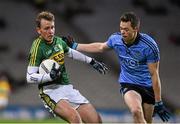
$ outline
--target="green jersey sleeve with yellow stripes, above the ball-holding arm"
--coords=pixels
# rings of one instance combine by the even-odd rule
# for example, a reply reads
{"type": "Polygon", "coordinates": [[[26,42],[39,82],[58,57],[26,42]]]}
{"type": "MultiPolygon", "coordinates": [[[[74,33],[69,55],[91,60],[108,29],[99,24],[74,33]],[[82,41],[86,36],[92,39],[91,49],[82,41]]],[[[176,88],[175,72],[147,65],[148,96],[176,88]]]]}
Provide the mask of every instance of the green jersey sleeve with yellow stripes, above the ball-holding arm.
{"type": "Polygon", "coordinates": [[[31,46],[31,50],[28,56],[29,66],[39,66],[42,61],[40,42],[40,39],[37,39],[31,46]]]}

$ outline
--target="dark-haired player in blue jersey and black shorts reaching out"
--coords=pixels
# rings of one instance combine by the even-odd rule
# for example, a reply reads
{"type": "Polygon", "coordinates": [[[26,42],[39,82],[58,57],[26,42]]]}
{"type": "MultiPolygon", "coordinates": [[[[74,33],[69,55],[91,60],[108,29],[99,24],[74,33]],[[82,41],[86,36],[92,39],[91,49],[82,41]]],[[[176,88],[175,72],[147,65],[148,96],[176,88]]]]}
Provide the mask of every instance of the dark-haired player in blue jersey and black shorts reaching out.
{"type": "Polygon", "coordinates": [[[135,123],[152,123],[153,112],[163,122],[170,118],[161,98],[159,77],[159,48],[149,35],[140,33],[140,19],[134,12],[120,18],[120,32],[112,34],[106,42],[76,43],[64,37],[73,49],[85,52],[104,52],[113,49],[119,59],[119,83],[124,101],[135,123]]]}

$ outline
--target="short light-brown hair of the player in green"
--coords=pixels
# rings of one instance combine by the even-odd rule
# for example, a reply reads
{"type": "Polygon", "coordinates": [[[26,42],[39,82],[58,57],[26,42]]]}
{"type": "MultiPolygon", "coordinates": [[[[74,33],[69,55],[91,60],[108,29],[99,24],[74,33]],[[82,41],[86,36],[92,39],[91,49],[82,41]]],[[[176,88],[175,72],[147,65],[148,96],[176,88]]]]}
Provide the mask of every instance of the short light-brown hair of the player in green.
{"type": "Polygon", "coordinates": [[[37,27],[41,26],[42,19],[45,19],[48,21],[55,21],[54,15],[51,12],[43,11],[43,12],[40,12],[36,17],[36,26],[37,27]]]}

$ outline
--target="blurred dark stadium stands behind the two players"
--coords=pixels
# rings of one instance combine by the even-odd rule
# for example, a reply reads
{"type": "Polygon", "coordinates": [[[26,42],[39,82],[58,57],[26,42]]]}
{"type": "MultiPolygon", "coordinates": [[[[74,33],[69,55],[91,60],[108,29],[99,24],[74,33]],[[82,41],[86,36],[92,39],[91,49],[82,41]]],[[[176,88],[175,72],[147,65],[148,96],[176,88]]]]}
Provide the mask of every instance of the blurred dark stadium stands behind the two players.
{"type": "MultiPolygon", "coordinates": [[[[6,70],[12,86],[9,105],[0,118],[47,118],[36,85],[25,81],[27,55],[36,37],[35,17],[41,10],[56,16],[56,34],[72,35],[78,42],[105,41],[119,31],[119,18],[135,11],[141,18],[141,31],[151,34],[161,51],[162,96],[173,113],[171,122],[180,122],[180,3],[178,0],[1,0],[0,71],[6,70]],[[16,113],[16,114],[15,114],[16,113]]],[[[104,122],[131,122],[119,94],[119,66],[113,52],[88,54],[109,66],[100,75],[90,66],[66,59],[72,84],[101,113],[104,122]]],[[[159,118],[155,121],[160,122],[159,118]]]]}

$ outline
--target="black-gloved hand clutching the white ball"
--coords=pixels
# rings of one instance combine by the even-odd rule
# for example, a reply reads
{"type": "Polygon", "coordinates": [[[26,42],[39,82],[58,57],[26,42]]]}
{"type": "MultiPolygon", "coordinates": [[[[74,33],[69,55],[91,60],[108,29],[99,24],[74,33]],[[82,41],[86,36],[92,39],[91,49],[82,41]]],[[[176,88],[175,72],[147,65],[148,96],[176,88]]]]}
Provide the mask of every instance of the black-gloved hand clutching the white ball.
{"type": "Polygon", "coordinates": [[[56,68],[55,66],[56,64],[53,63],[52,69],[50,71],[50,77],[52,80],[57,79],[61,74],[61,66],[59,66],[59,68],[56,68]]]}

